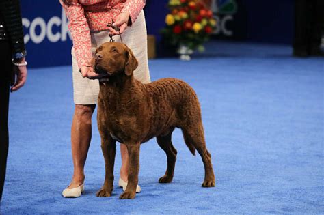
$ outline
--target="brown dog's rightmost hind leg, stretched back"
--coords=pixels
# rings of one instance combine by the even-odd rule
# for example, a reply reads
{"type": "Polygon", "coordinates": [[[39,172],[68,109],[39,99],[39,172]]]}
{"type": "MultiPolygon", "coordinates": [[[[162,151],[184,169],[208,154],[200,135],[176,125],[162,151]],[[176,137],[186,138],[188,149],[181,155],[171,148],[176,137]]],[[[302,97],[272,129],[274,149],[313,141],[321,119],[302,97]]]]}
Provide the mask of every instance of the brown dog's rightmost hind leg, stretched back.
{"type": "Polygon", "coordinates": [[[191,124],[191,126],[181,129],[183,130],[185,143],[189,147],[190,151],[192,152],[192,147],[195,147],[195,149],[197,149],[198,153],[202,157],[202,162],[204,163],[205,169],[205,178],[202,186],[215,186],[215,175],[213,171],[213,164],[211,163],[211,154],[206,148],[206,141],[204,139],[204,130],[202,128],[202,124],[191,124]]]}

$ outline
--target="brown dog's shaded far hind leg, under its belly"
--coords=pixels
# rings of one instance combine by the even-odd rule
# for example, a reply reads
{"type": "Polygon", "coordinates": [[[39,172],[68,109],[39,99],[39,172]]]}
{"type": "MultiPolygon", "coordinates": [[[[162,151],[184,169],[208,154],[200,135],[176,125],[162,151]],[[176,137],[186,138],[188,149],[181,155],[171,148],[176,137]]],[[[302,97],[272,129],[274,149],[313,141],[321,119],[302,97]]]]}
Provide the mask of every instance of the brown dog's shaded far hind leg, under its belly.
{"type": "Polygon", "coordinates": [[[165,175],[160,177],[159,183],[170,183],[172,182],[173,179],[177,152],[174,146],[172,145],[171,136],[172,136],[172,131],[166,136],[157,137],[157,143],[167,155],[167,170],[165,171],[165,175]]]}

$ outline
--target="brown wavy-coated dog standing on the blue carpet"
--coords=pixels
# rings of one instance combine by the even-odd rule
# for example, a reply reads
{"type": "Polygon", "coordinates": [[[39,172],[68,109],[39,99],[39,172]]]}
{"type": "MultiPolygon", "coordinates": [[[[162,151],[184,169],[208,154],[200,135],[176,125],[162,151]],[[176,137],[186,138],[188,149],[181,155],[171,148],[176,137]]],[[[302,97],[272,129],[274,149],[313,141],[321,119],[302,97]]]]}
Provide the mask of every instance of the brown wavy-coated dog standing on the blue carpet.
{"type": "Polygon", "coordinates": [[[163,78],[149,84],[137,81],[133,71],[138,62],[124,44],[107,42],[96,50],[94,71],[100,74],[98,129],[105,158],[105,182],[98,197],[113,191],[116,141],[129,153],[128,184],[120,199],[133,199],[138,183],[139,146],[153,137],[167,155],[167,170],[159,183],[170,183],[174,175],[176,149],[171,142],[174,128],[181,128],[185,143],[202,156],[203,187],[215,186],[211,154],[206,149],[200,104],[195,91],[185,82],[163,78]]]}

